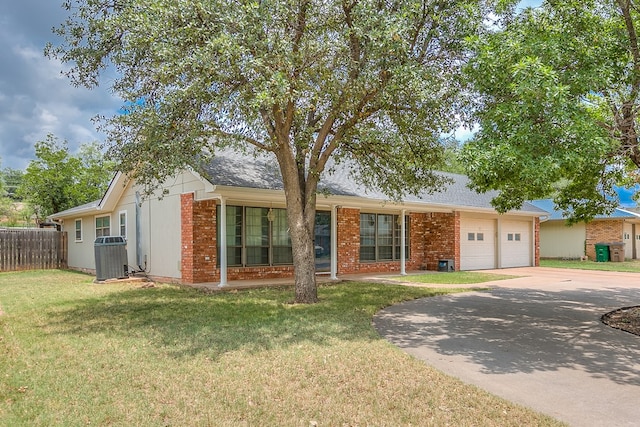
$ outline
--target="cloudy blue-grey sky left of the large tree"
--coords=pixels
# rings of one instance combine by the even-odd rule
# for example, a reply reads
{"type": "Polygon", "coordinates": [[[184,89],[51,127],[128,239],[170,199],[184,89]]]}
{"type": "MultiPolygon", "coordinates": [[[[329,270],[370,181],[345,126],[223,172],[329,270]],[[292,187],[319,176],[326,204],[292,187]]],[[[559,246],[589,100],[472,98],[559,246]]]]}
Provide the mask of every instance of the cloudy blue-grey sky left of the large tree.
{"type": "Polygon", "coordinates": [[[51,28],[65,17],[59,2],[21,0],[0,4],[0,167],[24,169],[34,144],[48,133],[69,142],[102,140],[91,119],[115,114],[121,102],[106,87],[73,87],[67,65],[43,54],[55,41],[51,28]]]}

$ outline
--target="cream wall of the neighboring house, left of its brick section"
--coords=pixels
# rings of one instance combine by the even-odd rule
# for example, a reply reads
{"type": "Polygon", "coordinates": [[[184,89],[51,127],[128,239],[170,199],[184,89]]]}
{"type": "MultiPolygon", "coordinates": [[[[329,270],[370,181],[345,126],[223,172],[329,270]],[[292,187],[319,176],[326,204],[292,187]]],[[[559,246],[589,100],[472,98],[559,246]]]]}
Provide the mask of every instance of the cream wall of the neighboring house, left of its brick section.
{"type": "Polygon", "coordinates": [[[586,229],[584,223],[568,227],[564,221],[540,224],[541,258],[580,258],[584,256],[586,229]]]}

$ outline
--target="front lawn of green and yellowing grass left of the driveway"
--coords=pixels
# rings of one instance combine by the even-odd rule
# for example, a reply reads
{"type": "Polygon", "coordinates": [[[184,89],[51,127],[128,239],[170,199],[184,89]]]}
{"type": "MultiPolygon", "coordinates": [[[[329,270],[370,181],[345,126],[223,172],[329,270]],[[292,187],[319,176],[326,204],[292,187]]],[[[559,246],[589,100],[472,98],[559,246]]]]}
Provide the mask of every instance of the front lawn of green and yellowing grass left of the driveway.
{"type": "Polygon", "coordinates": [[[558,425],[381,339],[372,315],[446,290],[205,294],[0,273],[0,425],[558,425]]]}

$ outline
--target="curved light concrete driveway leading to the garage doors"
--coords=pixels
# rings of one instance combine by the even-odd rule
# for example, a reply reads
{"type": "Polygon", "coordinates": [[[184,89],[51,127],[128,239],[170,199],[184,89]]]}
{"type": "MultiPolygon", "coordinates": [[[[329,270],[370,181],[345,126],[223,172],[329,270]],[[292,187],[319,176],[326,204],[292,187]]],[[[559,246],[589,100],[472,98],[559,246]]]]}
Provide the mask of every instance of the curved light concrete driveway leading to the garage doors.
{"type": "Polygon", "coordinates": [[[640,305],[640,274],[492,272],[526,277],[389,307],[374,326],[429,365],[571,425],[639,425],[640,337],[600,316],[640,305]]]}

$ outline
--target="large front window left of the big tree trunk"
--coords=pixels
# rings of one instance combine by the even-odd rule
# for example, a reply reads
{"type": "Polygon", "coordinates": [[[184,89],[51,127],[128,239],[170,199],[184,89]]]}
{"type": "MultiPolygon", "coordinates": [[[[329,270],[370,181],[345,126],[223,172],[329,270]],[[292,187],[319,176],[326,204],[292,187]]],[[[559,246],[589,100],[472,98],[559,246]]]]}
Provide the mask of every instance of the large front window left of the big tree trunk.
{"type": "MultiPolygon", "coordinates": [[[[219,218],[220,206],[217,209],[219,218]]],[[[227,206],[226,211],[228,266],[293,263],[285,209],[227,206]]]]}

